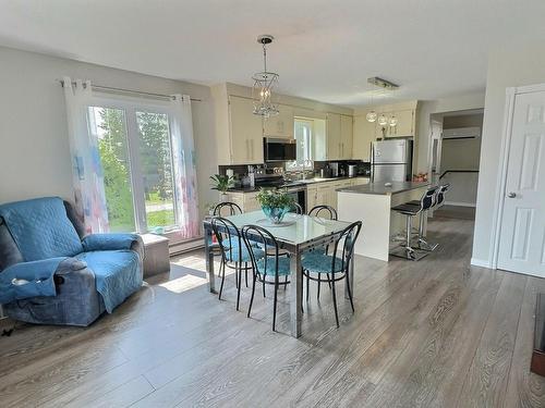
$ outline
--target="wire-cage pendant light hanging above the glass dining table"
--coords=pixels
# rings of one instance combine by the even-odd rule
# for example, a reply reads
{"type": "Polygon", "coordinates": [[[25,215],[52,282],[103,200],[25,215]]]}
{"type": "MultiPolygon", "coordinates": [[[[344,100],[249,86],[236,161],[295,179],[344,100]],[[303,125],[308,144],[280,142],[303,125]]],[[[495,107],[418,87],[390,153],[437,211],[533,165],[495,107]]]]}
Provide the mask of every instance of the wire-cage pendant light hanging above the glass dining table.
{"type": "Polygon", "coordinates": [[[268,34],[257,37],[257,42],[263,46],[263,72],[257,72],[252,76],[254,86],[252,87],[252,99],[254,100],[254,114],[269,118],[278,114],[278,107],[272,100],[272,89],[278,86],[278,74],[267,71],[267,45],[271,44],[275,37],[268,34]]]}

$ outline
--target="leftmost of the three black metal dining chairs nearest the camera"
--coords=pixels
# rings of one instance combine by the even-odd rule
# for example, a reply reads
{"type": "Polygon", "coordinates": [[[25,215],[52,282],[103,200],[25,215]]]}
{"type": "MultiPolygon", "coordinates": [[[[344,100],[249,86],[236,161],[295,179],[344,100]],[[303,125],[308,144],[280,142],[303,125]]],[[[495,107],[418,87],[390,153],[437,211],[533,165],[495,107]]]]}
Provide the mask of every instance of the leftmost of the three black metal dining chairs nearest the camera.
{"type": "MultiPolygon", "coordinates": [[[[221,264],[219,268],[221,275],[221,285],[219,287],[218,299],[221,300],[223,283],[226,281],[226,268],[234,270],[234,282],[237,285],[237,310],[240,305],[240,292],[242,286],[242,271],[246,273],[252,269],[250,251],[246,243],[242,239],[239,228],[229,220],[216,217],[211,220],[211,230],[218,240],[221,252],[221,264]],[[250,265],[249,265],[250,263],[250,265]]],[[[253,248],[253,256],[256,259],[264,257],[264,251],[259,248],[253,248]]],[[[247,280],[246,280],[247,285],[247,280]]]]}

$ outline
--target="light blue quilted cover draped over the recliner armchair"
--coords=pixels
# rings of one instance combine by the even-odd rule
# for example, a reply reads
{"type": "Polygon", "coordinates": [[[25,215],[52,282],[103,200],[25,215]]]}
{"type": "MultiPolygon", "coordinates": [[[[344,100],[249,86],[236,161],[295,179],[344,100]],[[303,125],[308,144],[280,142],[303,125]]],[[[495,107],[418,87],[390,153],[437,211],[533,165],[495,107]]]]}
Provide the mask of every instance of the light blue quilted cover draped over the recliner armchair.
{"type": "Polygon", "coordinates": [[[95,234],[80,239],[58,197],[0,206],[23,262],[0,271],[0,304],[34,296],[56,296],[53,274],[73,258],[95,274],[96,289],[111,313],[142,285],[142,260],[130,250],[133,234],[95,234]]]}

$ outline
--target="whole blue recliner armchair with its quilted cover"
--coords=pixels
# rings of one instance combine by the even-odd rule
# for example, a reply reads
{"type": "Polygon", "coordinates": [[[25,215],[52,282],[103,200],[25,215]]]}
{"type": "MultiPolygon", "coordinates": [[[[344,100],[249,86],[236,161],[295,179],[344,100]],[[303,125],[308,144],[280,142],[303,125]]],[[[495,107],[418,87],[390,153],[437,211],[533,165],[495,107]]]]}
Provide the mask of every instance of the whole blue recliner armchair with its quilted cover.
{"type": "Polygon", "coordinates": [[[135,234],[85,236],[58,197],[0,206],[0,304],[15,320],[86,326],[143,282],[135,234]]]}

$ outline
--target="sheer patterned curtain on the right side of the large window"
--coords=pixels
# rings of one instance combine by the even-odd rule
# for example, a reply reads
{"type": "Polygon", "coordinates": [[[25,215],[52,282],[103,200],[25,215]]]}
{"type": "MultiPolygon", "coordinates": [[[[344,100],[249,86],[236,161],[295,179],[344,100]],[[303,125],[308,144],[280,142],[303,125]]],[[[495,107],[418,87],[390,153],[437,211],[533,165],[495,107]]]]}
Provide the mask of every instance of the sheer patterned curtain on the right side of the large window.
{"type": "Polygon", "coordinates": [[[195,171],[195,147],[191,98],[174,95],[171,101],[170,133],[172,137],[172,161],[174,165],[174,199],[180,227],[179,237],[199,235],[198,198],[195,171]]]}

